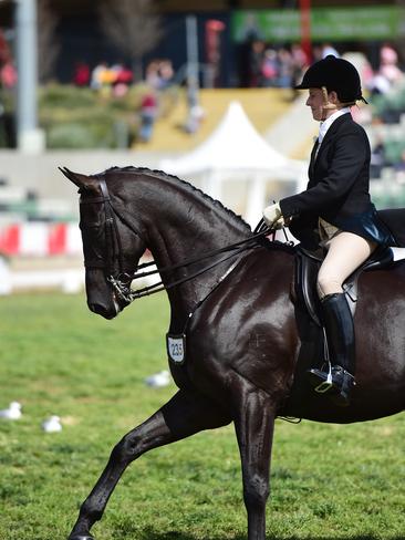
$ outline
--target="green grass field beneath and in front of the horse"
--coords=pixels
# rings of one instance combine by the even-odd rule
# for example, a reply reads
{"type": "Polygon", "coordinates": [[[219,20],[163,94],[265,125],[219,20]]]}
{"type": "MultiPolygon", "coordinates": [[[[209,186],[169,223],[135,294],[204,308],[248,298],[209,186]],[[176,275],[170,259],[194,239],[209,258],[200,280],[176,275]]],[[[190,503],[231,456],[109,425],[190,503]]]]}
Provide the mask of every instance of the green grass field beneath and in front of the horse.
{"type": "MultiPolygon", "coordinates": [[[[0,540],[63,540],[113,445],[175,392],[144,378],[166,368],[164,295],[115,321],[84,295],[0,299],[0,540]],[[59,434],[44,434],[49,414],[59,434]]],[[[351,426],[277,422],[268,539],[405,539],[405,418],[351,426]]],[[[156,449],[118,484],[97,540],[242,540],[246,513],[231,426],[156,449]]]]}

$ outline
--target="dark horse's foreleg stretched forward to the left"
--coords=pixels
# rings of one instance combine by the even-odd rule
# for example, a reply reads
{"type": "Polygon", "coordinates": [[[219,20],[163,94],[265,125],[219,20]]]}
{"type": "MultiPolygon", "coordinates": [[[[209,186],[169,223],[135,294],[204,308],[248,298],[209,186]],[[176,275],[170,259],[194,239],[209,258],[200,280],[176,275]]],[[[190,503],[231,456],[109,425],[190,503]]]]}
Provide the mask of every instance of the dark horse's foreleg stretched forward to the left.
{"type": "Polygon", "coordinates": [[[114,447],[107,466],[83,502],[69,540],[92,540],[90,529],[105,506],[125,468],[142,454],[189,435],[229,424],[231,418],[202,396],[179,391],[145,423],[127,433],[114,447]]]}

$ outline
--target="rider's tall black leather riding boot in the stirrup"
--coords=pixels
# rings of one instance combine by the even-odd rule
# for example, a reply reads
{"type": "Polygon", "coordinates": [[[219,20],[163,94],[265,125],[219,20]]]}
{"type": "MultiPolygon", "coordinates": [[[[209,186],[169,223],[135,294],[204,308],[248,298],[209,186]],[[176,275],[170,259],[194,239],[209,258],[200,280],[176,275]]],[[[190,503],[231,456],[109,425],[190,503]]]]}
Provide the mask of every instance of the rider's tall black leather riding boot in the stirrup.
{"type": "Polygon", "coordinates": [[[331,372],[309,370],[312,386],[330,396],[336,405],[347,406],[354,386],[354,324],[344,293],[328,294],[322,300],[323,324],[332,364],[331,372]]]}

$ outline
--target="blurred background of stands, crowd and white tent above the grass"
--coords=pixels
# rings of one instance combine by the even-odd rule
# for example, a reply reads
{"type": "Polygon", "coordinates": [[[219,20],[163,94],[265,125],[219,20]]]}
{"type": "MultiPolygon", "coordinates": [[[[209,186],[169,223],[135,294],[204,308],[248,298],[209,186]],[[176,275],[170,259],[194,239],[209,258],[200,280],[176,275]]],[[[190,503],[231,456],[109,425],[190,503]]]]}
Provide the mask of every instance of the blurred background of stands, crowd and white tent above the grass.
{"type": "Polygon", "coordinates": [[[0,0],[0,293],[83,287],[58,170],[163,169],[252,227],[305,185],[316,124],[293,86],[359,69],[378,208],[405,206],[403,0],[0,0]]]}

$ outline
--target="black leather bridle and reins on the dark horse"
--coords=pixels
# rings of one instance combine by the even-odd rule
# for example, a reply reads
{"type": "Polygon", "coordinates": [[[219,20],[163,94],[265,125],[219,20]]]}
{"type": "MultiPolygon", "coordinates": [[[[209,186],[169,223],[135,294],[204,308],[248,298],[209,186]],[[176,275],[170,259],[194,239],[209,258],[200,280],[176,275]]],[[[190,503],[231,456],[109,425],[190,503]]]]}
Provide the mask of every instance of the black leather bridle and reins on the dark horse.
{"type": "MultiPolygon", "coordinates": [[[[237,255],[240,255],[243,251],[247,251],[249,249],[257,248],[258,239],[264,238],[271,233],[274,235],[274,228],[266,226],[263,220],[261,220],[258,227],[255,229],[253,233],[250,237],[245,238],[243,240],[239,240],[235,243],[225,246],[224,248],[208,251],[206,253],[202,253],[199,257],[187,259],[177,264],[170,264],[168,267],[156,268],[154,270],[149,270],[146,272],[139,272],[139,270],[143,270],[152,266],[156,266],[155,261],[144,262],[142,264],[138,264],[133,272],[128,273],[127,271],[125,271],[124,268],[122,242],[118,233],[116,218],[118,218],[124,225],[126,225],[126,227],[129,228],[132,232],[134,232],[138,238],[141,238],[144,241],[145,246],[147,245],[146,242],[147,235],[144,229],[135,227],[132,222],[132,219],[127,219],[125,217],[126,214],[128,215],[128,217],[131,217],[126,210],[123,209],[117,210],[117,208],[113,206],[105,179],[101,177],[97,177],[97,179],[100,181],[102,196],[89,197],[89,198],[83,198],[82,196],[80,204],[89,205],[89,204],[102,202],[104,205],[106,252],[103,255],[103,257],[98,257],[98,258],[95,257],[89,258],[86,255],[84,255],[84,266],[86,269],[92,269],[92,268],[104,269],[106,279],[112,284],[116,294],[127,303],[131,303],[138,298],[154,294],[155,292],[173,289],[176,285],[193,280],[198,276],[200,276],[201,273],[207,272],[211,268],[215,268],[216,266],[227,261],[228,259],[231,259],[237,255]],[[162,276],[178,270],[180,268],[186,268],[191,264],[196,264],[198,262],[219,256],[221,253],[226,253],[225,257],[221,257],[220,259],[217,259],[214,262],[208,261],[206,266],[195,271],[194,273],[187,277],[179,278],[175,281],[172,281],[168,284],[164,284],[163,281],[159,281],[157,283],[153,283],[150,285],[144,287],[138,290],[131,289],[131,283],[133,280],[146,278],[148,276],[154,276],[157,273],[162,276]],[[118,263],[118,272],[115,272],[115,267],[116,267],[115,261],[117,261],[118,263]]],[[[225,274],[220,278],[219,282],[222,281],[222,279],[230,273],[230,271],[236,267],[238,261],[239,260],[235,261],[235,263],[232,263],[231,267],[228,268],[225,274]]]]}

